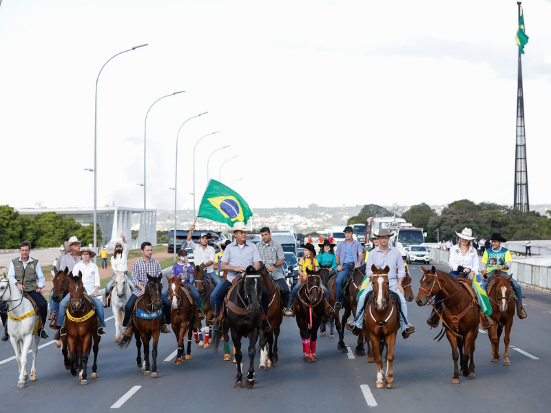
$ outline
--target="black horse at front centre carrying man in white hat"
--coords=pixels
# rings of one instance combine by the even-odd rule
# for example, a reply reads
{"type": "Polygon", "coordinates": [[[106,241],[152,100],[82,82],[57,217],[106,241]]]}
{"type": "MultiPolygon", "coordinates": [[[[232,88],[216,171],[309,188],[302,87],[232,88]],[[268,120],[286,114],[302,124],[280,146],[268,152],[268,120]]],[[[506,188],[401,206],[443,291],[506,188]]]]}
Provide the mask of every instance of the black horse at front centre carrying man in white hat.
{"type": "MultiPolygon", "coordinates": [[[[243,373],[241,371],[241,361],[243,354],[241,352],[241,338],[249,337],[249,373],[245,380],[245,387],[252,388],[255,384],[254,377],[254,357],[256,354],[256,341],[259,339],[260,330],[260,312],[262,281],[260,279],[262,269],[256,270],[253,266],[248,266],[244,275],[234,280],[231,290],[226,295],[225,301],[227,307],[224,311],[224,320],[222,331],[214,332],[213,346],[214,352],[218,351],[220,339],[231,332],[231,340],[236,348],[236,389],[243,388],[243,373]]],[[[260,335],[260,348],[266,346],[264,335],[260,335]]]]}

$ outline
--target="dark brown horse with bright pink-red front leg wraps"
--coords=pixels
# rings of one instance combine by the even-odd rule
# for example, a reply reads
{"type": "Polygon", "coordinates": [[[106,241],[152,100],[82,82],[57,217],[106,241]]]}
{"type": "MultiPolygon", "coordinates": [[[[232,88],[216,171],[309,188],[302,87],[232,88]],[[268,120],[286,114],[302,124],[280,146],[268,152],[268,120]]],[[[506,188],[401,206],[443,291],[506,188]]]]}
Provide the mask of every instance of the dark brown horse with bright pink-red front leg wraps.
{"type": "Polygon", "coordinates": [[[308,363],[318,359],[315,354],[318,328],[325,314],[321,272],[306,268],[306,282],[298,290],[295,299],[295,318],[302,339],[304,359],[308,363]]]}

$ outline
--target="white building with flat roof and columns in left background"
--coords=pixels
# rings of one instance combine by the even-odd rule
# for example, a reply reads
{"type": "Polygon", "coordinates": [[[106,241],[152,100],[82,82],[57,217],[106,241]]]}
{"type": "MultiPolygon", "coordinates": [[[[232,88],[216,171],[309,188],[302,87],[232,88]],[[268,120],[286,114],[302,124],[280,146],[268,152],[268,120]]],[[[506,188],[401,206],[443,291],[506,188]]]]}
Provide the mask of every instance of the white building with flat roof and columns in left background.
{"type": "MultiPolygon", "coordinates": [[[[72,217],[82,226],[94,221],[93,208],[21,208],[17,209],[21,215],[38,215],[39,213],[55,212],[65,217],[72,217]]],[[[98,244],[114,249],[115,242],[121,240],[121,233],[125,235],[130,248],[138,248],[144,241],[157,243],[157,214],[155,209],[101,207],[97,209],[97,221],[101,230],[101,240],[98,244]],[[132,215],[140,215],[138,237],[132,240],[132,215]]],[[[70,236],[70,234],[67,234],[70,236]]]]}

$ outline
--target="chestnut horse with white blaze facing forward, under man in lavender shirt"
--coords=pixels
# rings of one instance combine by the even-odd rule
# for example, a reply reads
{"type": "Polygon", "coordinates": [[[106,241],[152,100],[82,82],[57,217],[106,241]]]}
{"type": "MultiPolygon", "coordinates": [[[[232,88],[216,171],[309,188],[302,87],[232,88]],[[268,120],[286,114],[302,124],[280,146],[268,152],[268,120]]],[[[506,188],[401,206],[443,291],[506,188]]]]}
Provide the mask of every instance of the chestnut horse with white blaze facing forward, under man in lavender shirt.
{"type": "Polygon", "coordinates": [[[388,282],[388,271],[390,270],[388,265],[382,269],[375,265],[371,266],[373,291],[369,292],[366,297],[366,311],[362,328],[365,337],[369,337],[375,363],[377,363],[377,383],[375,384],[377,389],[382,389],[384,386],[391,388],[394,383],[394,346],[400,326],[400,299],[390,289],[388,282]],[[382,354],[385,348],[386,373],[383,374],[382,354]]]}

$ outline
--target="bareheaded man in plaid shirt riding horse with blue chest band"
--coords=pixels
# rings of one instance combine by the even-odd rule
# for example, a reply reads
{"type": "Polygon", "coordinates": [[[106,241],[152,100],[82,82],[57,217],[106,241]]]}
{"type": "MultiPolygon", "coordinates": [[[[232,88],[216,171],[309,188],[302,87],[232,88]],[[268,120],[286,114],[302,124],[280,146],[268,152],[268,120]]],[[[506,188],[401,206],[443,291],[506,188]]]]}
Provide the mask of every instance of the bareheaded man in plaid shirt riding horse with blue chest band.
{"type": "MultiPolygon", "coordinates": [[[[134,304],[138,297],[141,297],[145,293],[145,286],[147,286],[147,275],[150,277],[158,277],[162,272],[160,269],[160,264],[157,260],[152,258],[153,255],[153,246],[151,242],[145,241],[142,242],[142,257],[134,262],[132,266],[132,282],[135,287],[132,290],[132,295],[130,295],[125,306],[125,318],[123,319],[123,336],[129,337],[132,334],[132,328],[127,327],[132,313],[134,313],[134,304]]],[[[160,331],[168,333],[170,328],[170,301],[164,295],[160,295],[161,301],[163,301],[163,326],[161,326],[160,331]]]]}

